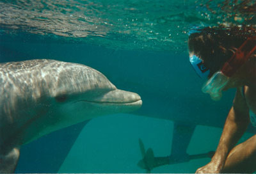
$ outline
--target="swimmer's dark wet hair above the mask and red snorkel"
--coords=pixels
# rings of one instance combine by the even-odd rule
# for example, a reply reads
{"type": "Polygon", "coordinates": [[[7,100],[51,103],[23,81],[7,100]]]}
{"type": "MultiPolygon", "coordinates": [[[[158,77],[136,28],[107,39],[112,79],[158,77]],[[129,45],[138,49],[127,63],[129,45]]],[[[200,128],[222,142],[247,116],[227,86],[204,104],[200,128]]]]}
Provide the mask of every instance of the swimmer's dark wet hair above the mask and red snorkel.
{"type": "Polygon", "coordinates": [[[203,60],[205,67],[210,70],[211,77],[223,67],[247,38],[255,35],[254,28],[245,26],[198,29],[198,32],[189,36],[189,53],[193,52],[203,60]]]}

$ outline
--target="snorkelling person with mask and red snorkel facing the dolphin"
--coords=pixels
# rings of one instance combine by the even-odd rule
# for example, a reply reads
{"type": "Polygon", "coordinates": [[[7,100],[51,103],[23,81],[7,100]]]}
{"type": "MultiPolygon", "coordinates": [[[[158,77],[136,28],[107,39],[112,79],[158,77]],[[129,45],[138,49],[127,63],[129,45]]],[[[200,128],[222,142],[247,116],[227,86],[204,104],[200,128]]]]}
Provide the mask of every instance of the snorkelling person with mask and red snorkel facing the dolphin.
{"type": "Polygon", "coordinates": [[[256,130],[256,31],[253,28],[205,28],[189,36],[189,59],[207,83],[213,100],[236,88],[220,142],[211,162],[196,173],[253,173],[256,135],[236,145],[252,122],[256,130]]]}

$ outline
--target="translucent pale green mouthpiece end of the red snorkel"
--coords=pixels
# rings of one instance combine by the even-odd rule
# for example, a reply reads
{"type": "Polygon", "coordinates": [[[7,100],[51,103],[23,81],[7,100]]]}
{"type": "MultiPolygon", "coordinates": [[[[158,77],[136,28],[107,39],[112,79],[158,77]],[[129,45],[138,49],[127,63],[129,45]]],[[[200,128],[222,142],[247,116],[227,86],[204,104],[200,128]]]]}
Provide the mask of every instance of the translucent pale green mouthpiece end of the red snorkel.
{"type": "Polygon", "coordinates": [[[202,91],[209,93],[212,100],[218,101],[222,97],[222,90],[225,88],[229,81],[229,78],[222,72],[216,72],[203,86],[202,91]]]}

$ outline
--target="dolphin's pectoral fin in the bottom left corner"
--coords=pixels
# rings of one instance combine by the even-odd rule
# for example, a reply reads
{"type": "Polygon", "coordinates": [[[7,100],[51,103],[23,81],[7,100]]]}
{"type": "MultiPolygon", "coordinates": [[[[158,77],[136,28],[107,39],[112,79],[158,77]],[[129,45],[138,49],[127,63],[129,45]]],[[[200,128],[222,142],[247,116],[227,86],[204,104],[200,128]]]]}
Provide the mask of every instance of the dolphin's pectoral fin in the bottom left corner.
{"type": "Polygon", "coordinates": [[[20,149],[13,148],[6,154],[0,154],[0,173],[14,173],[19,161],[20,149]]]}

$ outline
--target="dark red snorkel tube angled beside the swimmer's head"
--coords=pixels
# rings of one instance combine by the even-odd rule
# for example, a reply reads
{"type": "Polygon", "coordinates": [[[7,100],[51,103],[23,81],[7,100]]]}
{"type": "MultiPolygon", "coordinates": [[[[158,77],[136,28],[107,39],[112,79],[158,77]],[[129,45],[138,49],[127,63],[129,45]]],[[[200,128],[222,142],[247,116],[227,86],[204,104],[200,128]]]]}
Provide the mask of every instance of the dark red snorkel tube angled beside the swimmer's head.
{"type": "Polygon", "coordinates": [[[227,77],[232,77],[236,70],[239,69],[253,54],[256,50],[256,36],[248,38],[244,43],[237,49],[233,56],[223,65],[221,72],[227,77]]]}

